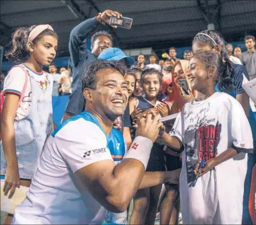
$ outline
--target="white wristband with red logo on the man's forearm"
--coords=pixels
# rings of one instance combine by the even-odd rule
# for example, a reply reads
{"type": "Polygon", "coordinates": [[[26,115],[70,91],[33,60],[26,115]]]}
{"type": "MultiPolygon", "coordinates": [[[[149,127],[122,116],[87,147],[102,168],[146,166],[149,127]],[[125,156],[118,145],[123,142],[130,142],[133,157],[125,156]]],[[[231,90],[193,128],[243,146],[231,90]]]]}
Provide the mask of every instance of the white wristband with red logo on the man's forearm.
{"type": "Polygon", "coordinates": [[[145,170],[149,162],[149,156],[153,142],[143,136],[137,136],[127,151],[124,159],[137,159],[143,163],[145,170]]]}

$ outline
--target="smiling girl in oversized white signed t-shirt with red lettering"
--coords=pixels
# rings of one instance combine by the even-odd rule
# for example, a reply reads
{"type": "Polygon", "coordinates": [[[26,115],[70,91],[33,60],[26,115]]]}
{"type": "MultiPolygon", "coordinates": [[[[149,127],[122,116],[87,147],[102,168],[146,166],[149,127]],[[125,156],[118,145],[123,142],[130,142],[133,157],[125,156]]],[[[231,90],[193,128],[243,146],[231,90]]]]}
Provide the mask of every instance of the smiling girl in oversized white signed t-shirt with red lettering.
{"type": "Polygon", "coordinates": [[[253,150],[253,138],[239,102],[215,91],[216,81],[230,85],[221,61],[214,51],[194,53],[187,77],[192,89],[203,95],[183,106],[172,136],[160,132],[162,144],[183,151],[183,224],[242,224],[246,153],[253,150]],[[198,169],[202,160],[203,168],[198,169]]]}

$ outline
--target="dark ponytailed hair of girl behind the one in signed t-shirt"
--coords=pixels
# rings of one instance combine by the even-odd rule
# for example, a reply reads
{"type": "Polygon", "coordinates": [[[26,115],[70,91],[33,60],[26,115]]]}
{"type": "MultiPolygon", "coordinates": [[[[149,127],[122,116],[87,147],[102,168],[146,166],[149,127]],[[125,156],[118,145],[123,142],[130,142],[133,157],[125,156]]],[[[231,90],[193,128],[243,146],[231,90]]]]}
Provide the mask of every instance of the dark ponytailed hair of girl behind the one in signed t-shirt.
{"type": "Polygon", "coordinates": [[[222,71],[222,73],[218,76],[218,89],[221,91],[229,92],[231,87],[233,87],[232,79],[234,77],[235,71],[231,65],[231,61],[229,60],[229,54],[227,53],[225,39],[222,37],[221,33],[218,33],[218,31],[204,30],[195,35],[193,43],[205,43],[207,45],[210,45],[211,48],[215,47],[215,43],[211,38],[200,33],[209,35],[216,42],[217,45],[221,46],[221,57],[225,62],[221,61],[221,68],[219,69],[219,71],[222,71]]]}

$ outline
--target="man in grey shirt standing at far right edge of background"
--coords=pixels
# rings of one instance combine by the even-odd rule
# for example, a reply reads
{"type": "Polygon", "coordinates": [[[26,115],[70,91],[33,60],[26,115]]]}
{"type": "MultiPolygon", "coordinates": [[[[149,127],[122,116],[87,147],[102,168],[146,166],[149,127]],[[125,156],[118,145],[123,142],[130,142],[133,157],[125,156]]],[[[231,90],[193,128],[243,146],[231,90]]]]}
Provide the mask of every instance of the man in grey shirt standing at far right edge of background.
{"type": "Polygon", "coordinates": [[[256,50],[255,50],[255,38],[252,35],[245,37],[245,46],[247,51],[244,51],[241,55],[241,62],[246,67],[250,80],[256,78],[256,50]]]}

